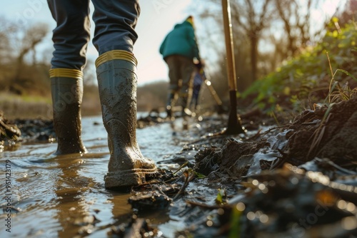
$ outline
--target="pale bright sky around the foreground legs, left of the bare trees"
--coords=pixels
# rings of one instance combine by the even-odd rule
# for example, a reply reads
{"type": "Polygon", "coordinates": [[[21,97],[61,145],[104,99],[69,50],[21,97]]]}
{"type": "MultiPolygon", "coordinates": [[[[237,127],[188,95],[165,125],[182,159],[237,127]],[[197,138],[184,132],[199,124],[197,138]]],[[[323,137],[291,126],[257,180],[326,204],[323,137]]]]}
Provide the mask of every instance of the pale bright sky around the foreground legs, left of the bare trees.
{"type": "MultiPolygon", "coordinates": [[[[141,14],[136,32],[139,35],[134,45],[134,54],[139,61],[138,64],[138,86],[153,81],[169,81],[168,68],[159,53],[159,47],[164,37],[175,24],[181,23],[188,15],[189,6],[193,0],[141,0],[141,14]]],[[[192,11],[192,10],[191,10],[192,11]]],[[[91,4],[91,13],[93,6],[91,4]]],[[[51,31],[56,26],[51,16],[46,0],[16,0],[6,3],[6,7],[0,7],[0,16],[16,21],[21,26],[27,27],[37,22],[49,25],[50,32],[39,45],[41,48],[51,48],[51,31]]],[[[94,23],[92,21],[92,36],[94,23]]],[[[92,63],[98,57],[96,48],[89,44],[87,57],[92,63]]],[[[51,58],[51,57],[49,57],[51,58]]],[[[94,66],[93,66],[94,68],[94,66]]]]}

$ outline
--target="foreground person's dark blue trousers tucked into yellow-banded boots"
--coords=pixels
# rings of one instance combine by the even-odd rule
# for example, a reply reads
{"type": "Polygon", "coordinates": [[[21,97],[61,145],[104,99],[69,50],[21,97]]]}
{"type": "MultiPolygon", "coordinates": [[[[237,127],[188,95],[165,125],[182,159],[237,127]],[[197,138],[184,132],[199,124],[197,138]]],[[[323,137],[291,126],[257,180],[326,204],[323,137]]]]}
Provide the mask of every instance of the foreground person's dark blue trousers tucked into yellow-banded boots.
{"type": "MultiPolygon", "coordinates": [[[[133,52],[139,0],[92,0],[95,24],[93,44],[99,56],[107,51],[133,52]]],[[[52,68],[83,71],[90,41],[89,0],[48,0],[57,26],[53,31],[52,68]]]]}

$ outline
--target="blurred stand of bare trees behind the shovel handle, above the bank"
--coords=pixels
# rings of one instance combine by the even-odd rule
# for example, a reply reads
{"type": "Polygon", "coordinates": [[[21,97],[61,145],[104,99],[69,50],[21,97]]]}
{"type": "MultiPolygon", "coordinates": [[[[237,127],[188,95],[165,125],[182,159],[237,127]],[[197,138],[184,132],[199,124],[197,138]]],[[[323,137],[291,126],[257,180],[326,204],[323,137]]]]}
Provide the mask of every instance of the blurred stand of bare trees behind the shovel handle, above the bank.
{"type": "MultiPolygon", "coordinates": [[[[354,9],[357,0],[348,1],[354,9]]],[[[296,56],[324,35],[331,16],[321,7],[323,4],[328,0],[231,0],[238,90],[248,88],[256,78],[275,70],[286,58],[296,56]],[[318,24],[313,22],[313,13],[321,15],[318,24]]],[[[201,21],[207,22],[206,33],[200,35],[205,38],[201,45],[220,56],[217,65],[223,77],[223,37],[216,36],[216,32],[223,36],[221,1],[204,0],[203,4],[201,0],[195,10],[201,13],[201,21]]]]}

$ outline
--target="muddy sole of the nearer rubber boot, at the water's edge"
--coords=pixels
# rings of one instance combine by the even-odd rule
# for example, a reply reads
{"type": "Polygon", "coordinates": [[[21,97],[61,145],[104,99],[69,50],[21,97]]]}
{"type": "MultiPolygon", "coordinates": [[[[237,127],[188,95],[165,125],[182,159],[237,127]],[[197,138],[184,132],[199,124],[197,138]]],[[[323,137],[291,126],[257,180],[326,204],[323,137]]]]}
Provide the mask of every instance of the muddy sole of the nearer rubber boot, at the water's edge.
{"type": "Polygon", "coordinates": [[[125,189],[128,187],[141,185],[146,182],[146,175],[151,175],[156,172],[156,168],[108,172],[104,176],[105,187],[109,190],[120,190],[121,188],[125,189]]]}

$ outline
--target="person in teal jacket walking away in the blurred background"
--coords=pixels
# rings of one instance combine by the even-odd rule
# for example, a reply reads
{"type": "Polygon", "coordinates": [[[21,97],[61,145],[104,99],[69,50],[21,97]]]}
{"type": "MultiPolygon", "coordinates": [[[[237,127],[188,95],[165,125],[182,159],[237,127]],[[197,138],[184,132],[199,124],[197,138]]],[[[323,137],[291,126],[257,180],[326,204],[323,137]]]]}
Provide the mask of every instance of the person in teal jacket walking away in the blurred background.
{"type": "Polygon", "coordinates": [[[200,61],[198,44],[193,27],[193,16],[188,16],[181,24],[176,24],[160,46],[160,53],[169,67],[169,95],[166,113],[171,117],[175,95],[181,100],[184,114],[188,100],[188,86],[193,73],[193,59],[200,61]],[[179,81],[181,80],[181,83],[179,81]]]}

